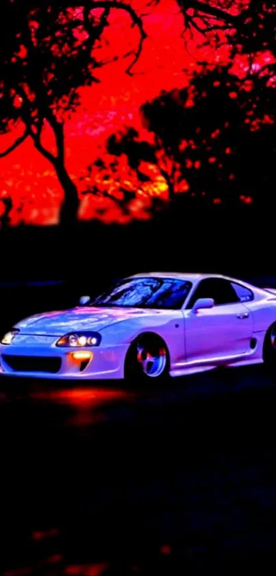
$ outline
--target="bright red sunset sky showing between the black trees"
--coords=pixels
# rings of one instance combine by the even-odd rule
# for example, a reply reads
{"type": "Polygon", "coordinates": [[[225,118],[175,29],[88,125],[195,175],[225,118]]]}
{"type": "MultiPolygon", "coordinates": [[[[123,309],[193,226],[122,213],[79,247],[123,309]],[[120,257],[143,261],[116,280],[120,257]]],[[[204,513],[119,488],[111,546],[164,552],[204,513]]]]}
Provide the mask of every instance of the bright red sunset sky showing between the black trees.
{"type": "MultiPolygon", "coordinates": [[[[137,5],[141,6],[141,0],[137,0],[137,5]]],[[[147,39],[133,70],[134,76],[125,73],[129,60],[123,58],[97,71],[101,82],[81,90],[81,106],[66,122],[67,166],[73,178],[79,178],[98,156],[104,157],[107,137],[123,126],[135,126],[143,137],[149,137],[142,132],[139,106],[157,96],[162,89],[183,87],[187,81],[184,67],[194,68],[197,60],[225,61],[227,58],[226,50],[218,54],[210,47],[200,48],[195,42],[187,51],[181,38],[183,19],[174,0],[163,0],[156,7],[145,8],[144,12],[146,10],[147,39]]],[[[129,47],[136,45],[137,30],[131,29],[129,17],[121,10],[112,16],[112,22],[108,31],[110,47],[101,51],[103,56],[114,56],[115,52],[123,56],[129,47]]],[[[18,133],[20,130],[18,127],[18,133]]],[[[15,136],[15,132],[1,136],[0,150],[12,143],[15,136]]],[[[51,148],[51,136],[45,133],[44,138],[51,148]]],[[[164,186],[160,187],[160,192],[165,194],[164,186]]],[[[5,196],[11,196],[14,204],[10,213],[12,225],[20,222],[53,224],[58,221],[62,189],[51,164],[35,150],[31,139],[9,157],[0,159],[0,200],[5,196]]],[[[123,222],[112,200],[96,200],[92,196],[84,198],[81,218],[95,216],[95,210],[102,202],[106,207],[105,222],[123,222]]],[[[2,207],[0,202],[0,213],[2,207]]],[[[142,215],[140,204],[139,211],[142,215]]],[[[135,207],[133,216],[136,216],[135,207]]]]}

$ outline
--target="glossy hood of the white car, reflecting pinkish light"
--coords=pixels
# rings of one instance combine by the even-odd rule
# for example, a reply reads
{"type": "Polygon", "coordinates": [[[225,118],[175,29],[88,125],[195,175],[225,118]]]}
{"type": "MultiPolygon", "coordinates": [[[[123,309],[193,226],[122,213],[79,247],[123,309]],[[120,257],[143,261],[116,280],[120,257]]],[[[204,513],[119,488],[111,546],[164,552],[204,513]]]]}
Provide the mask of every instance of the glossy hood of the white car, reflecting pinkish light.
{"type": "Polygon", "coordinates": [[[64,336],[67,332],[80,330],[103,330],[114,323],[134,319],[138,316],[160,314],[161,310],[140,310],[137,308],[92,308],[81,307],[58,312],[45,312],[29,316],[14,327],[21,334],[47,334],[64,336]]]}

